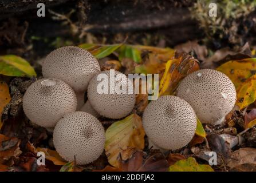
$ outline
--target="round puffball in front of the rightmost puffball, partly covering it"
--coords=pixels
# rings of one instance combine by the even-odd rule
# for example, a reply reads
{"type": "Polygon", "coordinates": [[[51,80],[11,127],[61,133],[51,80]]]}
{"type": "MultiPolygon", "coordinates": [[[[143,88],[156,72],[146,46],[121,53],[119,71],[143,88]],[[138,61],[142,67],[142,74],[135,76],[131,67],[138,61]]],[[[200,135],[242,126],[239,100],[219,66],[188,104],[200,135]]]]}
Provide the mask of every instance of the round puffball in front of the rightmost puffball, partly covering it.
{"type": "Polygon", "coordinates": [[[143,113],[143,128],[159,148],[176,150],[192,140],[196,116],[191,105],[176,96],[151,101],[143,113]]]}

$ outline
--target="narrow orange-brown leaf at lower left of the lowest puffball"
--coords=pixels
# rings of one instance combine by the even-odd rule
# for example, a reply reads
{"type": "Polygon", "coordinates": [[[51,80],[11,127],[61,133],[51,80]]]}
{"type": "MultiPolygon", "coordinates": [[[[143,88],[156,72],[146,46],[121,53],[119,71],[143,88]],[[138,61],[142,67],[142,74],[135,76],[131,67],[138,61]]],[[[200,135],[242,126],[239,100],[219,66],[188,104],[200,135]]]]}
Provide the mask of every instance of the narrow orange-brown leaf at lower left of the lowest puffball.
{"type": "Polygon", "coordinates": [[[67,162],[61,158],[56,150],[50,150],[47,148],[37,148],[37,152],[44,152],[45,158],[53,162],[54,165],[65,165],[67,162]]]}

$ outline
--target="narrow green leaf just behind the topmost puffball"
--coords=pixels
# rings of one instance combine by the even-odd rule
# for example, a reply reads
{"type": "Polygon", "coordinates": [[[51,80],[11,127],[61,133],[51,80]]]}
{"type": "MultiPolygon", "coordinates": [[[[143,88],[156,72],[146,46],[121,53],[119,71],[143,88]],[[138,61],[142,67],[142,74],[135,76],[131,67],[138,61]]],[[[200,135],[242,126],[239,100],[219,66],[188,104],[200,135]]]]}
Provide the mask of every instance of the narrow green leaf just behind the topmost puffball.
{"type": "Polygon", "coordinates": [[[119,45],[94,45],[94,44],[82,44],[78,47],[81,47],[82,49],[85,49],[87,51],[90,51],[96,57],[97,59],[107,57],[108,55],[112,54],[113,51],[118,49],[121,46],[119,45]]]}

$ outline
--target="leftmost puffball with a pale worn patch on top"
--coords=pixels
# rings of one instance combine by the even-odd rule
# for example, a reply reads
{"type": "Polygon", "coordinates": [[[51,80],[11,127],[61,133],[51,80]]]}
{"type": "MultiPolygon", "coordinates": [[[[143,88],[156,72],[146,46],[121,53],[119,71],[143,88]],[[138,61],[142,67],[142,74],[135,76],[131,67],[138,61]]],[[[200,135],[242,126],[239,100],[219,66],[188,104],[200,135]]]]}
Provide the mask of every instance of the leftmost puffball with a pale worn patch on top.
{"type": "Polygon", "coordinates": [[[73,89],[60,79],[39,79],[32,83],[23,96],[23,110],[35,124],[54,127],[67,113],[76,110],[73,89]]]}

